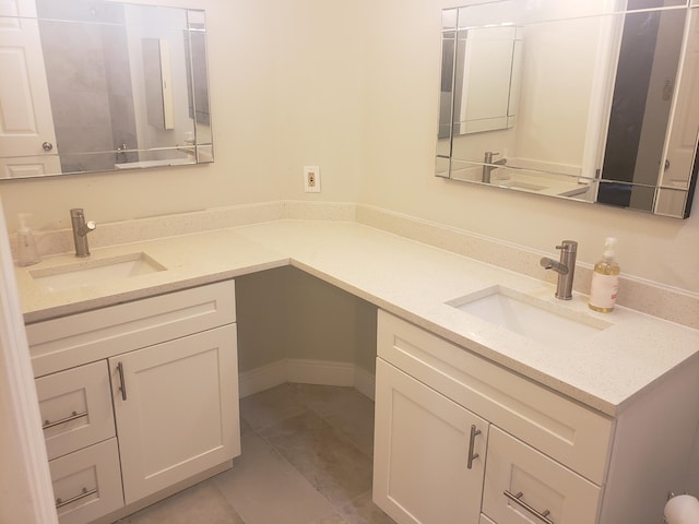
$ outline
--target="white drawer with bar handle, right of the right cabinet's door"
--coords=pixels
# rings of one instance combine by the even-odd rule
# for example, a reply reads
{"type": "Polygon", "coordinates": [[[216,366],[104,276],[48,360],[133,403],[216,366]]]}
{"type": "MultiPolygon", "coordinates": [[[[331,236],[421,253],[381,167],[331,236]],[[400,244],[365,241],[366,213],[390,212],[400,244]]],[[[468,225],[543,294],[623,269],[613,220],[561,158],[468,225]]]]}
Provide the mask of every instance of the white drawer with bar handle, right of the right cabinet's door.
{"type": "Polygon", "coordinates": [[[483,513],[493,521],[590,524],[596,522],[600,495],[600,488],[580,475],[490,428],[483,513]]]}

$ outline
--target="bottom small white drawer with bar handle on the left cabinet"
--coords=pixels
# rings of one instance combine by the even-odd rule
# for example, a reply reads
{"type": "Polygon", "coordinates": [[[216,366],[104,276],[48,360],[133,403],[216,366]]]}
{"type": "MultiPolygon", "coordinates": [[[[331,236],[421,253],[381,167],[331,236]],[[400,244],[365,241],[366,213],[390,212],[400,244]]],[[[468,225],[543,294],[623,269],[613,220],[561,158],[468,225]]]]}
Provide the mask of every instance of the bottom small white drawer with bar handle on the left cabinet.
{"type": "Polygon", "coordinates": [[[82,524],[123,505],[117,439],[49,461],[61,524],[82,524]]]}

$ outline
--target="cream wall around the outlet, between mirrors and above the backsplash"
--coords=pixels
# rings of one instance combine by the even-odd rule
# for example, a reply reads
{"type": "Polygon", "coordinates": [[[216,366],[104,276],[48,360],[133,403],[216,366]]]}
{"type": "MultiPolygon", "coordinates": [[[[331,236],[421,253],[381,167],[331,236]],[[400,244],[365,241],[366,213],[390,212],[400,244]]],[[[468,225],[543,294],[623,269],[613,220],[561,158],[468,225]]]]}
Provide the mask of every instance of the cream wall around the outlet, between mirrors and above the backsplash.
{"type": "MultiPolygon", "coordinates": [[[[216,162],[0,184],[9,228],[68,227],[279,199],[359,201],[593,263],[619,237],[626,274],[699,293],[699,203],[687,221],[434,177],[440,11],[455,0],[168,0],[208,13],[216,162]],[[320,165],[305,194],[301,166],[320,165]]],[[[697,200],[697,199],[696,199],[697,200]]]]}

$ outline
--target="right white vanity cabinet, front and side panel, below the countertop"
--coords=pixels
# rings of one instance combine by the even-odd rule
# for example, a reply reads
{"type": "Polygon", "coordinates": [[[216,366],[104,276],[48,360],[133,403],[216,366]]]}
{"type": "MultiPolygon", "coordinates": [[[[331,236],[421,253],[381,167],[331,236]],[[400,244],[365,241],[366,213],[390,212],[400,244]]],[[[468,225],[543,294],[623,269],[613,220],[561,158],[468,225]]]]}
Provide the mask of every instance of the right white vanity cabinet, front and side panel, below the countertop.
{"type": "Polygon", "coordinates": [[[379,311],[375,502],[399,523],[651,522],[639,493],[691,450],[697,372],[609,417],[379,311]]]}

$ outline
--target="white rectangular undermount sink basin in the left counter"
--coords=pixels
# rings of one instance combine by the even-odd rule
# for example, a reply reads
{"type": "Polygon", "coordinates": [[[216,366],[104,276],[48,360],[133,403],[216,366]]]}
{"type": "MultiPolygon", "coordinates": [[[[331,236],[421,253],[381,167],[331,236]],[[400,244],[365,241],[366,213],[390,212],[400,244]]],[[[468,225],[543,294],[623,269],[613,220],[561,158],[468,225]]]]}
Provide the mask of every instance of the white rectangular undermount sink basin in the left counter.
{"type": "Polygon", "coordinates": [[[29,271],[29,275],[45,291],[64,291],[165,270],[166,267],[151,257],[139,252],[33,270],[29,271]]]}

